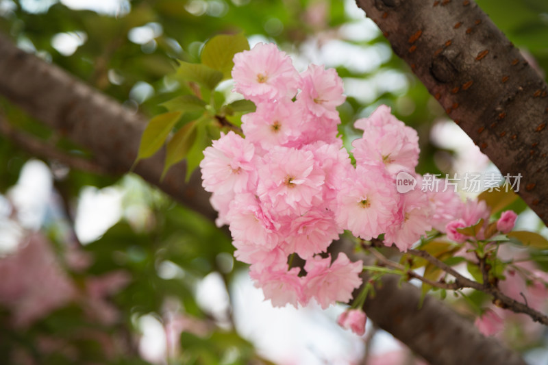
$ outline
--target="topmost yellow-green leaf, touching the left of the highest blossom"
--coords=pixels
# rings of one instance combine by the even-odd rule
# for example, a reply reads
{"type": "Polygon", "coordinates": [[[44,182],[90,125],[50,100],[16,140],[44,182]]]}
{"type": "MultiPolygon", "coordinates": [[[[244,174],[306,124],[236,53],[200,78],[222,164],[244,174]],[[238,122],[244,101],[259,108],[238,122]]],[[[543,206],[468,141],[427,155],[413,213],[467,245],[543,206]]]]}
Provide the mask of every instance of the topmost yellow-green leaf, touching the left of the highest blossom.
{"type": "Polygon", "coordinates": [[[249,50],[249,42],[242,33],[234,35],[221,34],[214,36],[203,46],[201,62],[217,71],[221,71],[223,77],[229,79],[232,67],[234,67],[232,61],[234,55],[246,50],[249,50]]]}

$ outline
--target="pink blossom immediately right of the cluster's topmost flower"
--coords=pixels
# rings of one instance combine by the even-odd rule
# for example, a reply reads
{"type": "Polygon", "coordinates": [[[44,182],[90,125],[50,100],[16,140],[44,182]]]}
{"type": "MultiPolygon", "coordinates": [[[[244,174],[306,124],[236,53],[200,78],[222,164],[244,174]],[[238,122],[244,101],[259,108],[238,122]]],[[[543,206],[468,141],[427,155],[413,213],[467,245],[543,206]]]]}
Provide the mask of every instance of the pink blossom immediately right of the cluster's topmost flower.
{"type": "Polygon", "coordinates": [[[336,107],[345,102],[343,80],[333,68],[311,64],[301,74],[301,92],[297,101],[303,103],[311,114],[338,120],[336,107]]]}

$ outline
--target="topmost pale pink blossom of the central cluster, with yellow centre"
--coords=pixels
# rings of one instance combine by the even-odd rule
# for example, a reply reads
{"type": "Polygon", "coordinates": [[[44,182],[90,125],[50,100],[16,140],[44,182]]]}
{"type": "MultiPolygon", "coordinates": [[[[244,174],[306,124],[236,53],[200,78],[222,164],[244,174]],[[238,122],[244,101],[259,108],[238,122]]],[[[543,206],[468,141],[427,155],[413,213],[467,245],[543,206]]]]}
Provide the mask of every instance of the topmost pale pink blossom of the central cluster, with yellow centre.
{"type": "Polygon", "coordinates": [[[300,82],[291,58],[273,43],[234,55],[234,91],[251,101],[292,98],[300,82]]]}

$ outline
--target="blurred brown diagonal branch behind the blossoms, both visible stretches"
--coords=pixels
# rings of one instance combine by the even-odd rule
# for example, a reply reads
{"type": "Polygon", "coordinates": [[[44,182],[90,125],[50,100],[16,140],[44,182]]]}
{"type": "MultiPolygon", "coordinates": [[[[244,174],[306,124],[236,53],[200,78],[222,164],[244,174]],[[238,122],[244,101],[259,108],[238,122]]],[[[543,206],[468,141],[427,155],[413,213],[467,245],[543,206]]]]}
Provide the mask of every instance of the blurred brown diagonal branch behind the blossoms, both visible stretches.
{"type": "MultiPolygon", "coordinates": [[[[144,119],[60,68],[17,49],[3,36],[0,95],[90,149],[105,168],[127,171],[132,165],[144,119]]],[[[139,164],[135,172],[197,212],[214,217],[199,179],[184,184],[184,168],[174,168],[160,183],[162,156],[156,155],[139,164]]],[[[351,253],[349,248],[346,251],[351,253]]],[[[479,335],[470,321],[436,299],[427,299],[423,309],[418,310],[419,295],[413,286],[399,289],[394,279],[387,279],[377,290],[377,297],[367,301],[366,311],[371,319],[432,364],[524,364],[499,342],[479,335]],[[477,356],[482,354],[492,357],[480,362],[477,356]],[[462,361],[455,362],[453,358],[462,361]]]]}

